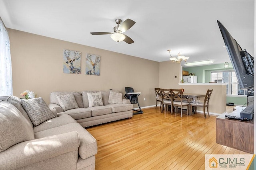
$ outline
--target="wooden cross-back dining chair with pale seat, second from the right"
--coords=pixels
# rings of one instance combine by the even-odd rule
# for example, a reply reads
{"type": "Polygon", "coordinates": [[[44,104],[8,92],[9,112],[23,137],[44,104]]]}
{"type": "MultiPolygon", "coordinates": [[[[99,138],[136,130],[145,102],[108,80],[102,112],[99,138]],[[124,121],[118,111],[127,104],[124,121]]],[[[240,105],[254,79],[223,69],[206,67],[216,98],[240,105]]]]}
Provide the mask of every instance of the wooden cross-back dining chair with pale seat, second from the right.
{"type": "Polygon", "coordinates": [[[190,109],[189,103],[183,101],[184,98],[182,97],[183,92],[181,89],[170,89],[170,95],[172,96],[171,113],[172,113],[173,107],[175,107],[176,113],[178,112],[178,107],[180,107],[181,108],[180,117],[182,117],[182,108],[184,106],[187,107],[187,114],[190,113],[189,112],[189,109],[190,109]]]}

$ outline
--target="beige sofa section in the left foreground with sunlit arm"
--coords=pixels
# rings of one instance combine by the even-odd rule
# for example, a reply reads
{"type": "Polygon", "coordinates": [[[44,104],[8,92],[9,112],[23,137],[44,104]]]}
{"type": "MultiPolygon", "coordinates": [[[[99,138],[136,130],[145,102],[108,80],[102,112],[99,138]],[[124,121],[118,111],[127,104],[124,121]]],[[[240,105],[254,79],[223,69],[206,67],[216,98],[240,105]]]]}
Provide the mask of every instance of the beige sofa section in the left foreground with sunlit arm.
{"type": "Polygon", "coordinates": [[[0,170],[95,169],[94,137],[70,115],[52,111],[42,98],[0,96],[0,170]],[[37,105],[44,113],[35,119],[37,105]]]}

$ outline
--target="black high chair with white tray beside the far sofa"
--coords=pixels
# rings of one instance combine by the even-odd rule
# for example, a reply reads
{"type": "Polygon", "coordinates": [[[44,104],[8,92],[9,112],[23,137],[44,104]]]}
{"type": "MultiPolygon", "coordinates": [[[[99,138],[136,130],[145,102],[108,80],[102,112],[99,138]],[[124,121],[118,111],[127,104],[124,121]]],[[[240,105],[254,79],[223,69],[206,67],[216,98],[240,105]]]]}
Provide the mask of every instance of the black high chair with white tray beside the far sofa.
{"type": "Polygon", "coordinates": [[[126,92],[124,97],[126,99],[130,100],[131,104],[138,104],[138,106],[139,106],[140,110],[132,109],[133,111],[137,112],[137,113],[133,113],[133,114],[142,114],[143,111],[141,110],[140,104],[139,104],[139,101],[138,101],[138,96],[142,93],[141,92],[134,92],[133,88],[131,88],[131,87],[126,87],[126,88],[124,88],[124,90],[126,92]]]}

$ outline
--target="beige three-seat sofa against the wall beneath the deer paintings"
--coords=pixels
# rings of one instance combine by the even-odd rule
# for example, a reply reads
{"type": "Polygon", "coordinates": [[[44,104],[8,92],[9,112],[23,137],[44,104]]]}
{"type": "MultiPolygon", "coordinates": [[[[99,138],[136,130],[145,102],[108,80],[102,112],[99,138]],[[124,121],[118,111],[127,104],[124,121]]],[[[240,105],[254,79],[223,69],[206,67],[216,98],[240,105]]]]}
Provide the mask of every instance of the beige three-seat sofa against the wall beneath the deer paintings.
{"type": "MultiPolygon", "coordinates": [[[[69,99],[66,99],[69,100],[69,99]]],[[[72,100],[67,104],[72,103],[72,100]]],[[[50,109],[56,110],[57,115],[70,115],[82,127],[89,127],[119,119],[126,119],[132,117],[133,105],[130,100],[122,98],[122,94],[118,90],[102,90],[102,91],[83,91],[83,92],[52,92],[50,94],[50,109]],[[60,104],[60,96],[74,96],[77,106],[69,107],[65,110],[65,104],[60,104]],[[89,94],[100,94],[102,104],[100,102],[96,106],[90,106],[92,98],[89,94]],[[88,98],[89,95],[89,98],[88,98]],[[99,106],[98,106],[99,105],[99,106]],[[63,109],[64,108],[64,109],[63,109]],[[70,109],[71,108],[71,109],[70,109]]]]}

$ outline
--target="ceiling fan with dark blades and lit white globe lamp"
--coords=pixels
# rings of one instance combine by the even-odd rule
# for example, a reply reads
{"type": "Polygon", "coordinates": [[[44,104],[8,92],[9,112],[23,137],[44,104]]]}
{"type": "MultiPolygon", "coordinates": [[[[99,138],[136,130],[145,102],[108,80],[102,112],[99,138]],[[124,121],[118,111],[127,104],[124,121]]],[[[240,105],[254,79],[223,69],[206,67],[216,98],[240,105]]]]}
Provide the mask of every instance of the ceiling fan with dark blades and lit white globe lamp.
{"type": "Polygon", "coordinates": [[[130,29],[134,24],[135,21],[127,19],[124,22],[122,22],[121,19],[116,19],[116,24],[117,26],[114,27],[114,32],[110,33],[110,32],[92,32],[92,35],[104,35],[104,34],[111,34],[110,37],[116,41],[116,42],[120,42],[120,41],[124,41],[128,44],[134,43],[134,41],[128,37],[127,35],[124,35],[123,33],[125,31],[127,31],[128,29],[130,29]]]}

